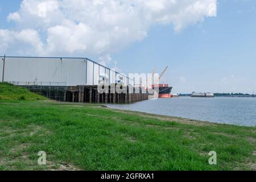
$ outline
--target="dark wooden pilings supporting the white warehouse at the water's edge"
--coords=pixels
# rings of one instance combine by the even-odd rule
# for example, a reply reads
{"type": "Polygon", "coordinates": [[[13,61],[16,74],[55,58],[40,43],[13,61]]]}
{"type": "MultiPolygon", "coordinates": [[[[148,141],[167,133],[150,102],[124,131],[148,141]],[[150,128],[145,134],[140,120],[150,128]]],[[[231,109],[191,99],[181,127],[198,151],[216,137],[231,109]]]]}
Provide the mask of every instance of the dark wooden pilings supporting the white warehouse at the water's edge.
{"type": "MultiPolygon", "coordinates": [[[[114,85],[115,88],[116,84],[114,85]]],[[[97,85],[79,86],[23,86],[31,92],[35,92],[50,98],[51,100],[62,102],[88,102],[88,103],[109,103],[109,104],[129,104],[138,101],[148,100],[148,93],[142,88],[126,87],[125,93],[113,91],[109,86],[108,92],[98,92],[97,85]]]]}

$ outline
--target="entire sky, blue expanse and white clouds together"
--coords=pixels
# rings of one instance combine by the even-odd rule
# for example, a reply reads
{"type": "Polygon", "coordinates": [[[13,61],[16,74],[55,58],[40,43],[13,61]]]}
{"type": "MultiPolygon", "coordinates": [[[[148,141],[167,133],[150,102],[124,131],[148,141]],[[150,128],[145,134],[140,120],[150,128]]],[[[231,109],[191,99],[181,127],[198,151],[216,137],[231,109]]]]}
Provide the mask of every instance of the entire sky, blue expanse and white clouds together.
{"type": "Polygon", "coordinates": [[[88,57],[173,93],[256,93],[254,0],[0,2],[0,55],[88,57]]]}

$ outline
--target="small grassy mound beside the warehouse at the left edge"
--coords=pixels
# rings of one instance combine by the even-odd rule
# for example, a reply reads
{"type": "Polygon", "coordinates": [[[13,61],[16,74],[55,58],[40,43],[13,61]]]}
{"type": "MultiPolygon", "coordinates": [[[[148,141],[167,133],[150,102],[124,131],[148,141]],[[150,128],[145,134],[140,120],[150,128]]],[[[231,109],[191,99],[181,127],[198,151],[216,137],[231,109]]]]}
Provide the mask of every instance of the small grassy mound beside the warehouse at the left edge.
{"type": "Polygon", "coordinates": [[[30,92],[19,86],[14,86],[7,82],[0,83],[0,100],[27,100],[27,101],[42,101],[47,100],[46,97],[30,92]]]}

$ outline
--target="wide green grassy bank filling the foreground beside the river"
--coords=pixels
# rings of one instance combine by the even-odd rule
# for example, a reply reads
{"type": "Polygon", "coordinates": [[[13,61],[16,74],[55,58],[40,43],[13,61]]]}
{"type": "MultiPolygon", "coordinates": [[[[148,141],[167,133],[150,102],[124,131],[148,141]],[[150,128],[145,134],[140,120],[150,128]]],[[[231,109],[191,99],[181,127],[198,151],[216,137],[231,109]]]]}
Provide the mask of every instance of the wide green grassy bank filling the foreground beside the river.
{"type": "Polygon", "coordinates": [[[255,127],[99,105],[0,101],[0,169],[255,169],[255,127]],[[38,152],[47,166],[38,166],[38,152]],[[217,165],[208,163],[217,152],[217,165]]]}

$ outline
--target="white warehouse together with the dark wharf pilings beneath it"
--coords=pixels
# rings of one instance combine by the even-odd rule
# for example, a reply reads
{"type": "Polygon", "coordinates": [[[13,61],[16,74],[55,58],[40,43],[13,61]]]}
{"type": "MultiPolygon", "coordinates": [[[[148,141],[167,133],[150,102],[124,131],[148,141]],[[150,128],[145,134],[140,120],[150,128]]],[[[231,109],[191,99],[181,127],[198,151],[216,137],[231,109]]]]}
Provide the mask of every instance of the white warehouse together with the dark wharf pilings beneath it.
{"type": "Polygon", "coordinates": [[[82,57],[0,56],[0,80],[64,102],[132,103],[148,100],[135,79],[82,57]],[[105,92],[98,86],[109,85],[105,92]],[[117,92],[121,86],[125,92],[117,92]],[[136,92],[135,92],[136,91],[136,92]]]}

